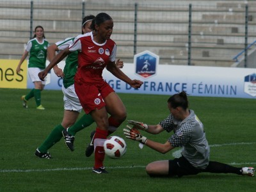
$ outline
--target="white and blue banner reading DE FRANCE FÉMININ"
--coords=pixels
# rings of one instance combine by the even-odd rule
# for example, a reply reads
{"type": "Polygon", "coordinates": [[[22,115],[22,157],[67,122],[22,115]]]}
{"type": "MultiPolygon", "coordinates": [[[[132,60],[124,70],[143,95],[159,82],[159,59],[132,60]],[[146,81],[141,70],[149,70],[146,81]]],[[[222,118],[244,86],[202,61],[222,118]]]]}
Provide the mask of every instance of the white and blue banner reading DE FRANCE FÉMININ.
{"type": "Polygon", "coordinates": [[[157,75],[148,77],[146,80],[138,77],[134,71],[134,64],[125,63],[122,71],[128,77],[141,80],[144,84],[140,89],[133,89],[104,70],[104,79],[116,92],[172,95],[186,91],[191,96],[256,98],[256,69],[254,68],[159,64],[157,75]]]}

